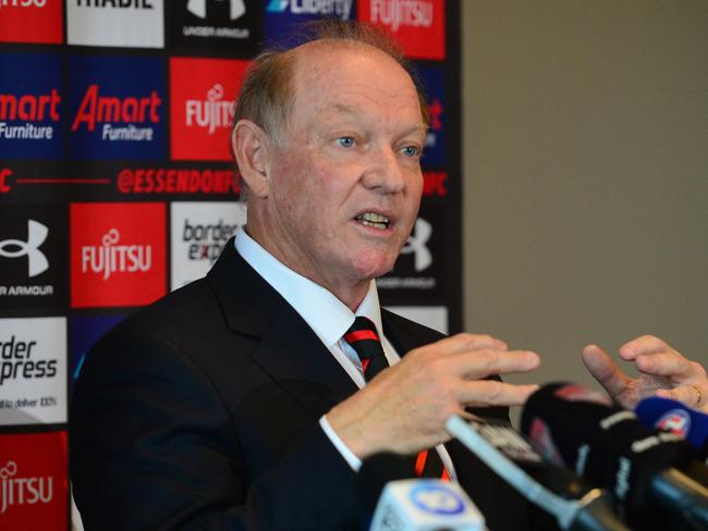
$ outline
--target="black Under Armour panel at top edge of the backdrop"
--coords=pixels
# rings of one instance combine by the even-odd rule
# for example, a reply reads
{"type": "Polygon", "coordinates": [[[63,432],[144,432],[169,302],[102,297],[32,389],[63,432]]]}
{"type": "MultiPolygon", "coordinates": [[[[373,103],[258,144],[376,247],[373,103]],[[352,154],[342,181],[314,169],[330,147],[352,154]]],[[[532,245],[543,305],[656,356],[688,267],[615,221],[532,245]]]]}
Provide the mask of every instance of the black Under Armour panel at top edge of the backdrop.
{"type": "Polygon", "coordinates": [[[245,0],[179,0],[172,8],[172,48],[212,48],[255,55],[263,40],[263,5],[245,0]]]}

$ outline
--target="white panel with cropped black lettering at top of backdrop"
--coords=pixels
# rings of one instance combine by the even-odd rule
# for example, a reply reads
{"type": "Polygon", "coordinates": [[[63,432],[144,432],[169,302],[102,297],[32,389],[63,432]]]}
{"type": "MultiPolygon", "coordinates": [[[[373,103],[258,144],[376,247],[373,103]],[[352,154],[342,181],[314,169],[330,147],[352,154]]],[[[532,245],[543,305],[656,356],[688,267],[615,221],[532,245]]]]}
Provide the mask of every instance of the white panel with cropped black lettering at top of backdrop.
{"type": "Polygon", "coordinates": [[[163,0],[66,0],[70,45],[162,48],[163,0]]]}

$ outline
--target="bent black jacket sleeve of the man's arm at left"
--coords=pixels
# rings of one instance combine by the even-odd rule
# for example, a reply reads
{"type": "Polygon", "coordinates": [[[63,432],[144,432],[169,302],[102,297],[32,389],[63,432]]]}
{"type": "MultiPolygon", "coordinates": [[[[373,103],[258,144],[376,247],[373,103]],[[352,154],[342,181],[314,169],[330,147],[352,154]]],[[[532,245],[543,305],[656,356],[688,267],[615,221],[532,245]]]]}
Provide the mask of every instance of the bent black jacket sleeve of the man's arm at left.
{"type": "Polygon", "coordinates": [[[317,422],[251,478],[208,378],[146,331],[109,334],[82,369],[70,462],[87,531],[357,529],[356,474],[317,422]]]}

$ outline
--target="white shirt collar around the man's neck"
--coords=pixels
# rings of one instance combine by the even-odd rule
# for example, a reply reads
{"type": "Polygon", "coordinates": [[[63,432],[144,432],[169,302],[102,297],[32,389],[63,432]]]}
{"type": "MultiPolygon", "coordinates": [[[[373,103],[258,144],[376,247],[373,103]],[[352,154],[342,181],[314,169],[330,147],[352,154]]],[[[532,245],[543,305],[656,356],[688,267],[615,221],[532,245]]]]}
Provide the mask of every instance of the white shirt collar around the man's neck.
{"type": "Polygon", "coordinates": [[[364,300],[353,313],[331,292],[293,271],[264,249],[243,226],[236,231],[235,247],[239,255],[300,313],[328,348],[331,349],[342,338],[358,316],[370,319],[379,334],[383,335],[381,308],[374,281],[369,282],[364,300]]]}

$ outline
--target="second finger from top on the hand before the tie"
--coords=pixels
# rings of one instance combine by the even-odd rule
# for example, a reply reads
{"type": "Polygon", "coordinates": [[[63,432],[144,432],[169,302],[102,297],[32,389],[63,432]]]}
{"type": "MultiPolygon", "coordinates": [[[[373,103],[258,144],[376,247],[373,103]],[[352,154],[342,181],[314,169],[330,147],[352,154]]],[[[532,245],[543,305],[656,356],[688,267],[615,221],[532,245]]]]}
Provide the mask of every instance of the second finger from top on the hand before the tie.
{"type": "Polygon", "coordinates": [[[490,374],[528,372],[538,368],[540,358],[530,350],[481,349],[461,353],[449,358],[454,374],[465,379],[486,378],[490,374]]]}

